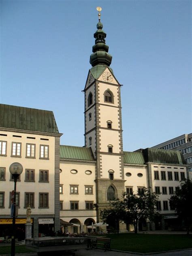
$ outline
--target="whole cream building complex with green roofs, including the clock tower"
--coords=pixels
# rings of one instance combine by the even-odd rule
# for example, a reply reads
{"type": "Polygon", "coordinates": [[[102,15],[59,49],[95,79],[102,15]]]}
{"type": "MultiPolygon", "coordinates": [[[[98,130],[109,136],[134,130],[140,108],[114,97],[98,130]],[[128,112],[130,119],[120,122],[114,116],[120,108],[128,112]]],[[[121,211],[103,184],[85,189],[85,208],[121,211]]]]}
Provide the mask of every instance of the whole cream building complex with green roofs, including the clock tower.
{"type": "MultiPolygon", "coordinates": [[[[100,210],[109,201],[121,198],[125,191],[142,192],[143,187],[159,195],[162,218],[160,226],[157,221],[151,228],[174,224],[169,198],[179,181],[188,178],[187,164],[179,151],[123,151],[121,84],[110,68],[112,56],[102,27],[99,16],[92,68],[83,90],[84,147],[60,145],[62,134],[52,111],[0,104],[0,225],[8,233],[13,162],[20,162],[24,170],[17,182],[18,220],[24,223],[30,204],[34,237],[61,226],[70,233],[80,232],[81,224],[86,232],[92,222],[100,221],[100,210]]],[[[122,224],[120,231],[130,228],[122,224]]],[[[139,228],[146,230],[146,223],[139,228]]]]}

